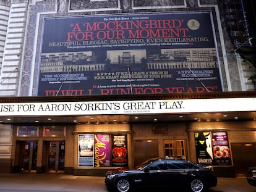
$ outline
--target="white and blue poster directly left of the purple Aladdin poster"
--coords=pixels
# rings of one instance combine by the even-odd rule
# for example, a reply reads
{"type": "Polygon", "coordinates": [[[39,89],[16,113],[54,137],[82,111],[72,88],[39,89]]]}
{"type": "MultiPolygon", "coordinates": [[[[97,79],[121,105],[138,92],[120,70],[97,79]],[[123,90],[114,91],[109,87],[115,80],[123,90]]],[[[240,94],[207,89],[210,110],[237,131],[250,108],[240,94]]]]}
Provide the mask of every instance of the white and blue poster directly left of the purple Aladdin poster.
{"type": "Polygon", "coordinates": [[[94,165],[94,135],[81,134],[79,135],[79,167],[93,167],[94,165]]]}

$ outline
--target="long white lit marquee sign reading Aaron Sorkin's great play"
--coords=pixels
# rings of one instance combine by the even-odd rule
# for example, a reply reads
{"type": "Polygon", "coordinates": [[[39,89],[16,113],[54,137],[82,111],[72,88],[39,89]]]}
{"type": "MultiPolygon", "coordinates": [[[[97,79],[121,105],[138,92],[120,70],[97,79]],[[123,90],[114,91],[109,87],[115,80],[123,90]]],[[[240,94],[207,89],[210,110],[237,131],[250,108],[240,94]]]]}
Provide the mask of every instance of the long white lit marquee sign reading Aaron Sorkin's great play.
{"type": "Polygon", "coordinates": [[[21,102],[0,104],[1,116],[172,114],[256,111],[256,98],[141,101],[21,102]]]}

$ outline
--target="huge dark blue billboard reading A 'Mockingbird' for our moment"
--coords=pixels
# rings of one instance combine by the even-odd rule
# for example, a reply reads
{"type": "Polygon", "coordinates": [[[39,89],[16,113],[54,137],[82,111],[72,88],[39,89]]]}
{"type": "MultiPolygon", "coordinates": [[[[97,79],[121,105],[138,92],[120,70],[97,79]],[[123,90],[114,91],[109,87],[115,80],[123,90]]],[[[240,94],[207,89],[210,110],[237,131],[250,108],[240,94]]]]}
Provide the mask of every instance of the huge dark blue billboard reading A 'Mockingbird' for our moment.
{"type": "Polygon", "coordinates": [[[38,96],[223,91],[210,12],[46,18],[38,96]]]}

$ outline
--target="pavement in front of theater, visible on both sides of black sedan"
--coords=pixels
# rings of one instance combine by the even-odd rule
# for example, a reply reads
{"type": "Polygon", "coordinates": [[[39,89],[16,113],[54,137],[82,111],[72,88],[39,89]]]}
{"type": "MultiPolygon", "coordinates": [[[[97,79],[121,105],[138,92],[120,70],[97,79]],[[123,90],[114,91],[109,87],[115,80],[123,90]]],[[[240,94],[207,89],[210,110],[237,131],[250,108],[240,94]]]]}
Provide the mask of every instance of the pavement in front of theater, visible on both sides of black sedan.
{"type": "MultiPolygon", "coordinates": [[[[1,192],[107,192],[105,177],[74,176],[61,173],[0,174],[1,192]]],[[[159,190],[160,192],[160,190],[159,190]]],[[[185,191],[184,191],[185,192],[185,191]]],[[[205,192],[256,192],[246,178],[218,178],[218,185],[205,192]]]]}

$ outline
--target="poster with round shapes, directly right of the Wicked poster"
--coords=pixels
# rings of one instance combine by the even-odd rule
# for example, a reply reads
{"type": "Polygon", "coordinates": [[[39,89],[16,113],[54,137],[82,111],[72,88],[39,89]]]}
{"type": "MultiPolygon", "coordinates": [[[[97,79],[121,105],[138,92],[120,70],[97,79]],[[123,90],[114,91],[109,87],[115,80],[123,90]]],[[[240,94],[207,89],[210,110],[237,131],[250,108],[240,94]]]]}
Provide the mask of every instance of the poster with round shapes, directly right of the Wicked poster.
{"type": "Polygon", "coordinates": [[[231,155],[227,132],[216,132],[213,135],[213,164],[231,165],[231,155]]]}

